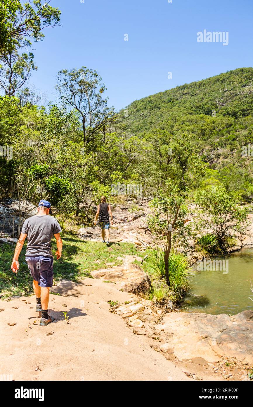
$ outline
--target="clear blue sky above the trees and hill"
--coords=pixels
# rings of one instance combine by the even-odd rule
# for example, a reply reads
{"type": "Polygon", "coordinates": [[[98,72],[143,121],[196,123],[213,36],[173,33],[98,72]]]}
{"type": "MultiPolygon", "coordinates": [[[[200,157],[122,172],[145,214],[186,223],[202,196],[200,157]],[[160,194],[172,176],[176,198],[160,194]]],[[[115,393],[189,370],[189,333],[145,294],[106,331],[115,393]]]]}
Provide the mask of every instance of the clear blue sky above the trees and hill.
{"type": "Polygon", "coordinates": [[[253,0],[52,0],[61,27],[34,44],[30,83],[55,101],[56,73],[97,69],[116,109],[177,85],[253,66],[253,0]],[[228,31],[229,44],[197,32],[228,31]],[[124,41],[128,34],[128,41],[124,41]],[[168,72],[172,79],[168,79],[168,72]]]}

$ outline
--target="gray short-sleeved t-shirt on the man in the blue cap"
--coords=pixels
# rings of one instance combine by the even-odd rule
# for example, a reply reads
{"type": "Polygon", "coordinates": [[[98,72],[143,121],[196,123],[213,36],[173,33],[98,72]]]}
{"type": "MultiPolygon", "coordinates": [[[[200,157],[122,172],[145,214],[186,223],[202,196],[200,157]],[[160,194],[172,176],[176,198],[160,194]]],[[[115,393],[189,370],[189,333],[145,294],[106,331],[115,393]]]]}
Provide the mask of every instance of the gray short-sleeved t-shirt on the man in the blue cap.
{"type": "Polygon", "coordinates": [[[54,234],[61,231],[57,220],[50,215],[35,215],[26,219],[21,231],[27,234],[26,256],[53,257],[51,240],[54,234]]]}

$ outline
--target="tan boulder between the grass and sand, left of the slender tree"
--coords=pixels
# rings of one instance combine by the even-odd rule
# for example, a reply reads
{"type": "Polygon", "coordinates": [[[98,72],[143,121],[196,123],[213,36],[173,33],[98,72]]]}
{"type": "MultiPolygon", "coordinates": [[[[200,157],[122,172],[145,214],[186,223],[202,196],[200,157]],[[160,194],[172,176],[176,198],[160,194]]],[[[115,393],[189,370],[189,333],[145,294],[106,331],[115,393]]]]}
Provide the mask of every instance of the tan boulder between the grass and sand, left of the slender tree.
{"type": "Polygon", "coordinates": [[[146,293],[151,285],[149,276],[135,264],[126,263],[122,266],[92,271],[91,276],[102,278],[119,284],[119,289],[127,293],[146,293]]]}

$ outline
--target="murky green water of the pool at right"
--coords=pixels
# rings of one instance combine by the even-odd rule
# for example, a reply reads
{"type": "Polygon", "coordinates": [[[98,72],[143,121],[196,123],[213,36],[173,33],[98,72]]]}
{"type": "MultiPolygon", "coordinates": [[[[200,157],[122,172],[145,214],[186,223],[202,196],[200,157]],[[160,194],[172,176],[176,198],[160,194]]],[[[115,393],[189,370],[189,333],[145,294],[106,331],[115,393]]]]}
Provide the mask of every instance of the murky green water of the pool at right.
{"type": "MultiPolygon", "coordinates": [[[[226,270],[224,273],[220,266],[218,271],[200,271],[189,276],[190,290],[182,311],[234,315],[246,309],[253,310],[253,302],[248,299],[253,298],[250,291],[250,280],[253,284],[253,249],[243,249],[212,260],[227,260],[228,263],[223,264],[228,265],[228,273],[226,270]]],[[[196,265],[192,268],[196,269],[196,265]]]]}

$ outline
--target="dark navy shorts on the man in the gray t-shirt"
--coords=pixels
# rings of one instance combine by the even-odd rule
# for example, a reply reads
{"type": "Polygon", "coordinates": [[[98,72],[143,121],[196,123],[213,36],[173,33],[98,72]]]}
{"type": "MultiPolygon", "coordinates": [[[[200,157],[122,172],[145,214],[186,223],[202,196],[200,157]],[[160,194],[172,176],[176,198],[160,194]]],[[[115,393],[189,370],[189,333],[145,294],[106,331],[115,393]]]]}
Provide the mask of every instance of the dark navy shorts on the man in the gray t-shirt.
{"type": "Polygon", "coordinates": [[[52,257],[26,256],[26,263],[33,280],[39,282],[39,287],[52,287],[53,285],[53,262],[52,257]]]}

